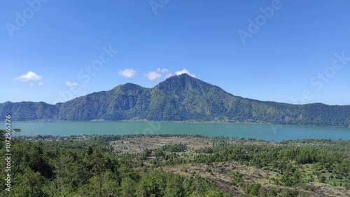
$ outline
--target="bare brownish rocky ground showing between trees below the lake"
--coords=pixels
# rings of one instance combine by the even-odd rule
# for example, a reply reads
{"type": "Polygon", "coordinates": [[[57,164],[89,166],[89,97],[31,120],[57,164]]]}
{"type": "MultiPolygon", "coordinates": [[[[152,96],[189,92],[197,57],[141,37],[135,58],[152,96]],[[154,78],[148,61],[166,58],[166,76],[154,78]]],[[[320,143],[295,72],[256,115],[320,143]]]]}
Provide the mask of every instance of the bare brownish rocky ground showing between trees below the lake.
{"type": "MultiPolygon", "coordinates": [[[[195,155],[195,150],[202,147],[211,147],[213,141],[210,138],[197,138],[194,136],[187,137],[142,137],[142,138],[123,138],[122,140],[113,141],[111,145],[116,152],[129,152],[129,153],[140,153],[144,149],[156,149],[163,145],[179,144],[183,143],[188,146],[188,151],[195,155]]],[[[236,140],[229,140],[229,143],[238,143],[236,140]]],[[[267,142],[249,142],[249,143],[267,143],[267,142]]],[[[268,143],[269,145],[274,145],[268,143]]],[[[148,163],[148,162],[145,162],[148,163]]],[[[148,163],[151,165],[151,163],[148,163]]],[[[197,173],[202,177],[214,180],[221,189],[230,192],[237,196],[241,193],[238,186],[232,186],[231,173],[241,173],[243,175],[244,182],[256,182],[260,183],[262,187],[269,191],[269,189],[283,190],[287,187],[276,186],[272,180],[278,179],[279,175],[272,171],[265,171],[260,168],[251,166],[241,165],[237,162],[230,163],[212,163],[207,165],[204,163],[191,163],[185,165],[166,166],[160,167],[162,170],[169,173],[176,173],[183,176],[193,175],[197,173]]],[[[303,190],[297,187],[299,194],[307,194],[311,197],[316,196],[350,196],[350,190],[344,187],[332,187],[329,184],[322,184],[318,182],[311,182],[306,184],[309,189],[303,190]]],[[[290,189],[290,188],[289,188],[290,189]]]]}

